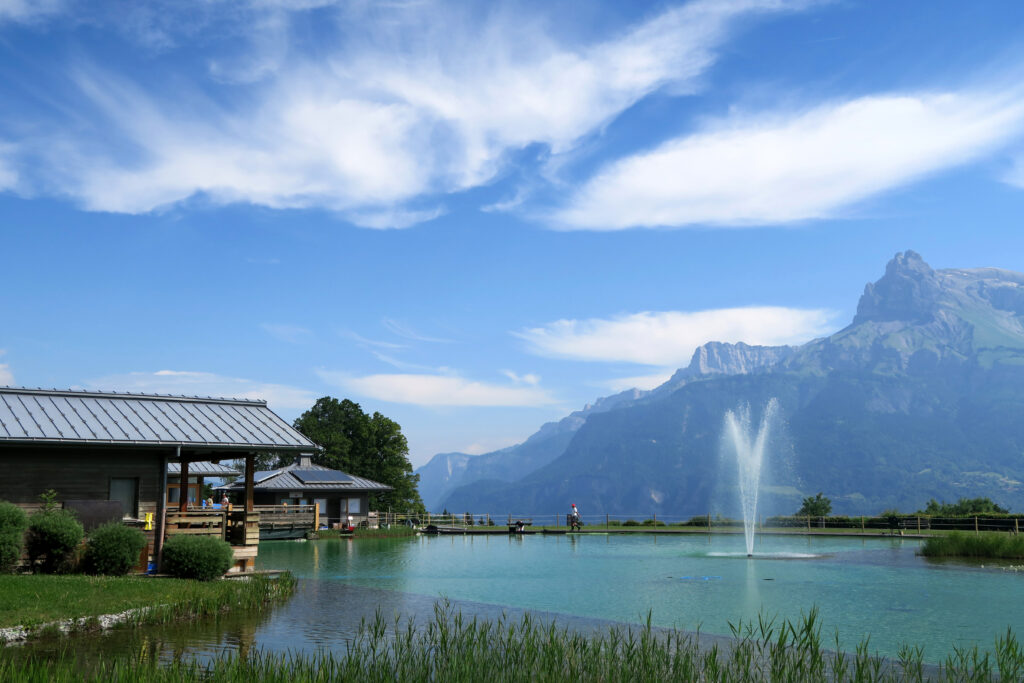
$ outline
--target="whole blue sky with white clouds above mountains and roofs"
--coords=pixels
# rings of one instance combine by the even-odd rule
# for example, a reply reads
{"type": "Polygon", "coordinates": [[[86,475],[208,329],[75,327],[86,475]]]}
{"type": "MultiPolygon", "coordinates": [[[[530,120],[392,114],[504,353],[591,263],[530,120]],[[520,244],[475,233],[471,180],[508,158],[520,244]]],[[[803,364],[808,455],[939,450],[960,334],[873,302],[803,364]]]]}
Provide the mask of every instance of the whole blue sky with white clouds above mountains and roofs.
{"type": "Polygon", "coordinates": [[[0,384],[322,395],[420,465],[897,251],[1024,270],[1024,4],[0,0],[0,384]]]}

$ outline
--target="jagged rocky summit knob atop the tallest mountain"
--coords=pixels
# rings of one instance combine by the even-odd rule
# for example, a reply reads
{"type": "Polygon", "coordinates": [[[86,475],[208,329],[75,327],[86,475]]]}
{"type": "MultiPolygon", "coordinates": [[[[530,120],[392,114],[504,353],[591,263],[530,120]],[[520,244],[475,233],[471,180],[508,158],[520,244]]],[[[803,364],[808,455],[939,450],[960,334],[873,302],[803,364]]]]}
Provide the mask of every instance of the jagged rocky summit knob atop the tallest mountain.
{"type": "Polygon", "coordinates": [[[853,324],[931,319],[938,309],[942,284],[935,270],[914,251],[893,257],[886,274],[864,287],[853,324]]]}

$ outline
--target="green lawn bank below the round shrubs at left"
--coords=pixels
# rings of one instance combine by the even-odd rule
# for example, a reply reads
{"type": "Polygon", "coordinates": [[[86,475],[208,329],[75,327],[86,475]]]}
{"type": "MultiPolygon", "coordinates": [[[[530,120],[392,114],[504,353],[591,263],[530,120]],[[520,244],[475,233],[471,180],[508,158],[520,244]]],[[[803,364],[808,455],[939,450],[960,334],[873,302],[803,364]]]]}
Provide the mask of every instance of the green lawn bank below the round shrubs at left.
{"type": "MultiPolygon", "coordinates": [[[[194,618],[289,597],[295,579],[196,582],[145,577],[0,575],[0,628],[81,620],[148,608],[141,623],[194,618]]],[[[0,677],[0,680],[3,680],[0,677]]]]}

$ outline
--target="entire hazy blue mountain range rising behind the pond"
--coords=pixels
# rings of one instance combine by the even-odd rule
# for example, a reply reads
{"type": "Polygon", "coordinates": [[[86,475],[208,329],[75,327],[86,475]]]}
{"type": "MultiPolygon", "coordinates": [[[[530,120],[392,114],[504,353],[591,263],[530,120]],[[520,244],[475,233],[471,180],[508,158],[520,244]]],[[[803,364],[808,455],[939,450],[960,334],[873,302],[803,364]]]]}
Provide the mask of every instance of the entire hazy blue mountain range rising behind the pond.
{"type": "Polygon", "coordinates": [[[768,512],[824,492],[838,512],[988,496],[1024,510],[1024,274],[933,270],[897,254],[853,323],[800,347],[708,344],[645,395],[587,416],[518,481],[454,490],[450,510],[689,515],[728,508],[723,415],[777,397],[768,512]]]}

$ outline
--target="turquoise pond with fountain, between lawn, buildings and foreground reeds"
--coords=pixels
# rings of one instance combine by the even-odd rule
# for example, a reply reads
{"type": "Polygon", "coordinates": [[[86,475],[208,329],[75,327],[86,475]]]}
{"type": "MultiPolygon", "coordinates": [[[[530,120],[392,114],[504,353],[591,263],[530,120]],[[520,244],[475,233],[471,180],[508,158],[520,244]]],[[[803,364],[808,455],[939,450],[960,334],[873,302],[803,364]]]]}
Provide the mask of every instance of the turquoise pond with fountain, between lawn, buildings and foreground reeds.
{"type": "MultiPolygon", "coordinates": [[[[921,644],[938,661],[954,646],[990,649],[1012,627],[1024,635],[1024,572],[937,564],[918,541],[762,537],[757,552],[811,555],[748,559],[742,537],[702,535],[441,536],[267,542],[261,568],[301,581],[289,603],[211,624],[177,625],[93,638],[88,648],[157,647],[200,655],[256,646],[343,648],[362,616],[380,609],[418,622],[438,598],[464,613],[518,616],[523,610],[571,629],[638,624],[729,634],[729,622],[759,613],[799,618],[816,605],[827,640],[844,649],[870,636],[894,655],[921,644]]],[[[132,630],[134,631],[134,630],[132,630]]]]}

